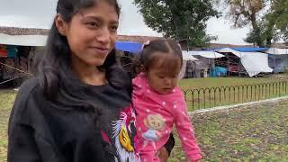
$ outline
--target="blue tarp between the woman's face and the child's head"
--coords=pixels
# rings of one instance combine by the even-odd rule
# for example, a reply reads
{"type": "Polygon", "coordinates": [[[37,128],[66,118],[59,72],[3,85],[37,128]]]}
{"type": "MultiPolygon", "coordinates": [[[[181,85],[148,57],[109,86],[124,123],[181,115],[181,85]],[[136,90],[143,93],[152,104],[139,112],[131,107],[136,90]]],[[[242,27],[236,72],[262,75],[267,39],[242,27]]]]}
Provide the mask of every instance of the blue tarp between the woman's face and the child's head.
{"type": "Polygon", "coordinates": [[[130,53],[140,53],[142,43],[132,41],[116,41],[115,49],[121,51],[127,51],[130,53]]]}

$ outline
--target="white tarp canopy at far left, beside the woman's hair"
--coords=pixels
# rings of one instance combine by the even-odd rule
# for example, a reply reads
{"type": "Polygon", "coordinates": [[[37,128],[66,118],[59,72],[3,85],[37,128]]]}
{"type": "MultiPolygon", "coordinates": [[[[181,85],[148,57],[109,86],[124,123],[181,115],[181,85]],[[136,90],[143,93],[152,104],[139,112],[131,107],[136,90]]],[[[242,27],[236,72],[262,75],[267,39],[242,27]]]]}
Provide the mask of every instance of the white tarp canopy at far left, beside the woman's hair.
{"type": "Polygon", "coordinates": [[[45,46],[47,36],[44,35],[7,35],[0,33],[0,44],[18,46],[45,46]]]}

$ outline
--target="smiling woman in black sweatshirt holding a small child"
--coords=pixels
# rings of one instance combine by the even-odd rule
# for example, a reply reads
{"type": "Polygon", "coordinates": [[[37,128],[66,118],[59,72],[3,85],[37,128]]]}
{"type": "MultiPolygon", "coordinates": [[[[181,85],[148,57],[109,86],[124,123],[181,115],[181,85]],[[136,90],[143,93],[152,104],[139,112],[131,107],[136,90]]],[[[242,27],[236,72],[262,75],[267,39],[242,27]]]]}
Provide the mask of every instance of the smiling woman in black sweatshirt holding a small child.
{"type": "Polygon", "coordinates": [[[139,161],[130,77],[115,61],[119,14],[116,0],[58,0],[38,73],[14,102],[8,162],[139,161]]]}

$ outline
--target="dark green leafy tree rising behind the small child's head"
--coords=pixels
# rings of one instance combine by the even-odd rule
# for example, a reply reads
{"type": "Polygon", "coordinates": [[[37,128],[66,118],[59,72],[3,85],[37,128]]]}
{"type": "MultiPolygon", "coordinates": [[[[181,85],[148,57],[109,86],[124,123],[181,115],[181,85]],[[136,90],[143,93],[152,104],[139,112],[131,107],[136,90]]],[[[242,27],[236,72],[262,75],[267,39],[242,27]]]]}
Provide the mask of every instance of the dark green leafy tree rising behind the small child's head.
{"type": "Polygon", "coordinates": [[[216,37],[206,34],[206,22],[219,13],[212,0],[134,0],[144,22],[154,31],[175,40],[187,40],[189,47],[202,47],[216,37]]]}

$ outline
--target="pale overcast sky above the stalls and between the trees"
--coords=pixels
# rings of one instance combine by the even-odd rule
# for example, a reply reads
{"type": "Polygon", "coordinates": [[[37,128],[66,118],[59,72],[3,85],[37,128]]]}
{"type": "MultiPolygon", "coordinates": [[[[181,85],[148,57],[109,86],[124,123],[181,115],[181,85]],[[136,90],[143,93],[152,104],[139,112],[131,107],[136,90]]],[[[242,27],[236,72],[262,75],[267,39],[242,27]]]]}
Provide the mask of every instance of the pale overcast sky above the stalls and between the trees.
{"type": "MultiPolygon", "coordinates": [[[[121,4],[119,34],[161,36],[143,23],[142,16],[132,0],[118,0],[121,4]]],[[[0,26],[49,29],[56,10],[57,0],[0,0],[0,26]]],[[[207,32],[218,36],[219,43],[246,44],[247,28],[232,30],[224,18],[208,21],[207,32]]]]}

